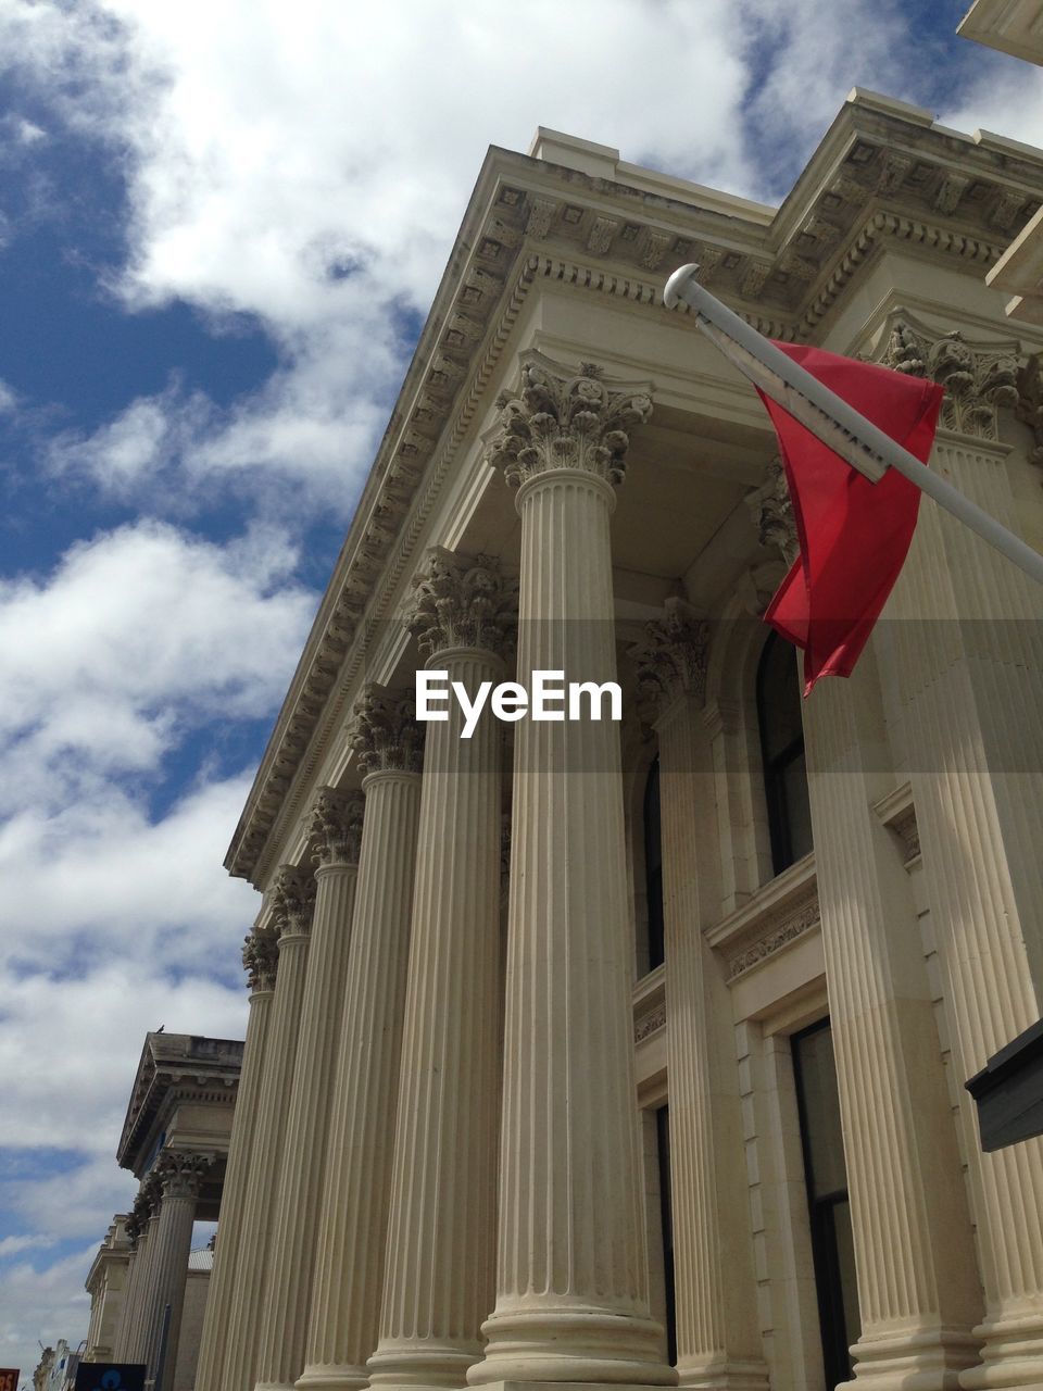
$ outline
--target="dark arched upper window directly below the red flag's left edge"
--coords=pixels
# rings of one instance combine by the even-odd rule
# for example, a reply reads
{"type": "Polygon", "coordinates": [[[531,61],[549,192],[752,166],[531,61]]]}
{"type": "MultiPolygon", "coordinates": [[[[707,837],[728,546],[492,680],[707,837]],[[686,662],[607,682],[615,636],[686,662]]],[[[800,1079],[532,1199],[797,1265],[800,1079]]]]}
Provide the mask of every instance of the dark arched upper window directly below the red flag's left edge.
{"type": "Polygon", "coordinates": [[[763,789],[776,874],[811,850],[804,726],[793,647],[772,633],[757,668],[763,789]]]}

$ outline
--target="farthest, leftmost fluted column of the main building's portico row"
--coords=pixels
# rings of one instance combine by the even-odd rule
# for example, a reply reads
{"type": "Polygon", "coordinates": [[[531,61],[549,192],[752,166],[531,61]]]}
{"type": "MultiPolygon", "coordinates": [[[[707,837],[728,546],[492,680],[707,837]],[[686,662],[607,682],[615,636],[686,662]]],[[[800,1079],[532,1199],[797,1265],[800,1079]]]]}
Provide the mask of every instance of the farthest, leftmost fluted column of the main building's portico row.
{"type": "Polygon", "coordinates": [[[243,1237],[243,1210],[250,1164],[253,1161],[260,1111],[264,1053],[275,989],[278,943],[273,932],[254,931],[243,946],[243,968],[250,986],[250,1013],[242,1054],[235,1117],[228,1145],[221,1210],[218,1213],[214,1269],[206,1296],[203,1337],[199,1346],[196,1391],[221,1391],[220,1372],[224,1362],[225,1331],[232,1308],[232,1281],[243,1237]]]}

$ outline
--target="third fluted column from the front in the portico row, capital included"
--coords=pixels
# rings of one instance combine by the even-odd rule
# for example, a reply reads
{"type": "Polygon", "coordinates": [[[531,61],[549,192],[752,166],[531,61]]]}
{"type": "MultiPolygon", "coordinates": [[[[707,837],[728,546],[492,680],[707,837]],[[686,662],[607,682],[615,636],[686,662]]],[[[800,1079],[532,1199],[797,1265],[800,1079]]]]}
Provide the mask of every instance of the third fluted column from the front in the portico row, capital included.
{"type": "Polygon", "coordinates": [[[423,733],[413,693],[369,687],[349,737],[366,773],[366,819],[307,1365],[298,1381],[337,1391],[366,1385],[378,1334],[420,811],[423,733]]]}

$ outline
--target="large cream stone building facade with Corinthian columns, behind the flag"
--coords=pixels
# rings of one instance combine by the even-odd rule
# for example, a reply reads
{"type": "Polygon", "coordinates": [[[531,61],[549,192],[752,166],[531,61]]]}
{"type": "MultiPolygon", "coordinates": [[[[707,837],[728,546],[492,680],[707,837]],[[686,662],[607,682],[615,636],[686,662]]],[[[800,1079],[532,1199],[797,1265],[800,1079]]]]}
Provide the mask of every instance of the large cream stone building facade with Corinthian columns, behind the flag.
{"type": "MultiPolygon", "coordinates": [[[[755,394],[662,306],[946,388],[1043,548],[1043,153],[854,92],[780,207],[492,149],[228,853],[263,893],[196,1391],[1043,1385],[1043,597],[932,504],[848,682],[755,394]],[[562,672],[622,719],[416,712],[562,672]]],[[[517,693],[516,693],[517,694],[517,693]]],[[[517,709],[513,711],[517,714],[517,709]]]]}

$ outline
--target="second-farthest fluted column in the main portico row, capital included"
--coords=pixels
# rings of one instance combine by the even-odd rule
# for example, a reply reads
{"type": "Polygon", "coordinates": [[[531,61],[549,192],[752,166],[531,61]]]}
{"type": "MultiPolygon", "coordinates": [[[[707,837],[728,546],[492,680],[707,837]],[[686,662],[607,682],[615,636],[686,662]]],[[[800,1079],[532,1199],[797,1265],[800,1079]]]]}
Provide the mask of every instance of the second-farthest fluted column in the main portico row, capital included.
{"type": "Polygon", "coordinates": [[[252,1391],[256,1381],[264,1276],[275,1224],[273,1193],[278,1188],[285,1148],[293,1143],[286,1131],[286,1113],[298,1049],[314,896],[316,882],[306,869],[282,865],[277,872],[271,901],[280,929],[278,976],[264,1047],[253,1155],[242,1205],[224,1360],[217,1378],[220,1391],[252,1391]]]}

